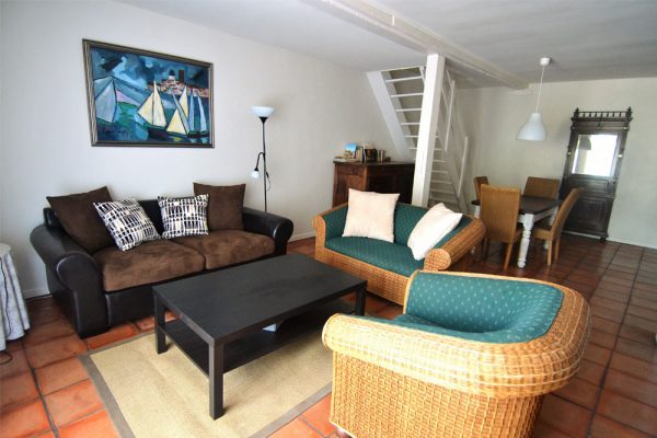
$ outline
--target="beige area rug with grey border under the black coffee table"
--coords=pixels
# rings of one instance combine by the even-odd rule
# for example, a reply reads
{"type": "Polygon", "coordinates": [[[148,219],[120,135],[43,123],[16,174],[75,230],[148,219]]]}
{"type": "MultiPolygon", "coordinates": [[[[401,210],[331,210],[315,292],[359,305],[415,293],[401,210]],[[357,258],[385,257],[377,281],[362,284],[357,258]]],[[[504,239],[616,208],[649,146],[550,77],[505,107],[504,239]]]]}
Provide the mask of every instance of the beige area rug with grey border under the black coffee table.
{"type": "Polygon", "coordinates": [[[208,379],[152,334],[82,358],[123,437],[265,437],[331,391],[331,351],[314,333],[223,376],[223,416],[209,416],[208,379]]]}

